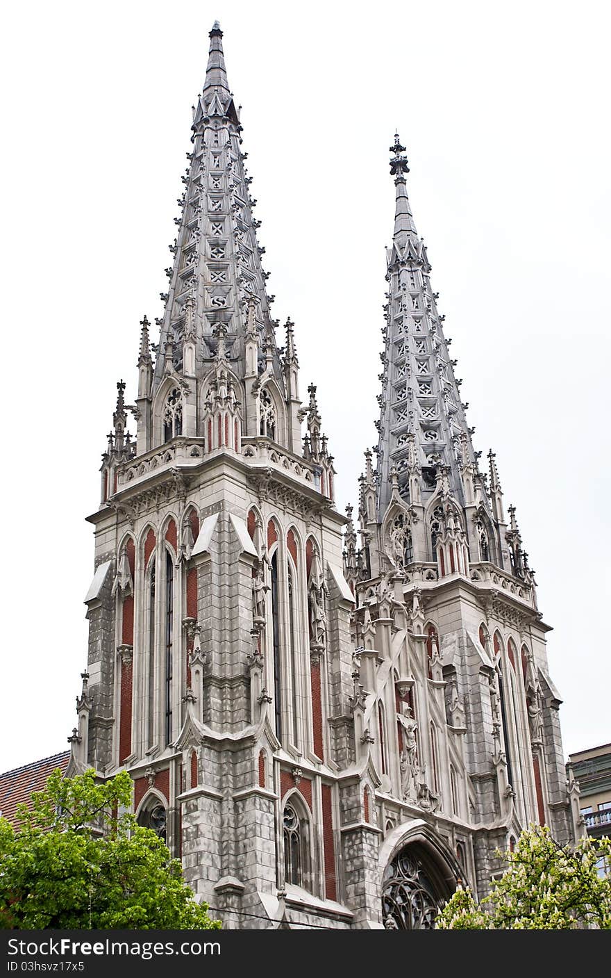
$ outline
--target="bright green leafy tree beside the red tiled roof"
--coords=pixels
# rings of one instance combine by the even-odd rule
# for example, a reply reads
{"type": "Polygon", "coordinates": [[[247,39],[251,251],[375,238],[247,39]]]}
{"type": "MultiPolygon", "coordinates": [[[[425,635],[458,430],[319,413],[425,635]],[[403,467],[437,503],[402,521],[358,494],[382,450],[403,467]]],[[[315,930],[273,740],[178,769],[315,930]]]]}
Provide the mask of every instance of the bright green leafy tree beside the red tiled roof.
{"type": "Polygon", "coordinates": [[[210,930],[178,860],[128,814],[132,780],[55,771],[19,829],[0,819],[0,927],[210,930]]]}

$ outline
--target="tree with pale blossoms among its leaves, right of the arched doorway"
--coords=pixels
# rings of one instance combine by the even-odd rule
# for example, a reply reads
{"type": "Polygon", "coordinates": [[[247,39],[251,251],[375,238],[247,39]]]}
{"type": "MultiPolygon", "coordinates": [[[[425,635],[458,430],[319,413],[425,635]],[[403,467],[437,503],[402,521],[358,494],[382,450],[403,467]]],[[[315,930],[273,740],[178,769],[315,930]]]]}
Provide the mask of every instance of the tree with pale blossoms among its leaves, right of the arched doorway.
{"type": "Polygon", "coordinates": [[[561,846],[547,826],[531,825],[504,858],[507,868],[489,896],[478,904],[468,888],[458,888],[437,929],[611,929],[611,839],[561,846]]]}

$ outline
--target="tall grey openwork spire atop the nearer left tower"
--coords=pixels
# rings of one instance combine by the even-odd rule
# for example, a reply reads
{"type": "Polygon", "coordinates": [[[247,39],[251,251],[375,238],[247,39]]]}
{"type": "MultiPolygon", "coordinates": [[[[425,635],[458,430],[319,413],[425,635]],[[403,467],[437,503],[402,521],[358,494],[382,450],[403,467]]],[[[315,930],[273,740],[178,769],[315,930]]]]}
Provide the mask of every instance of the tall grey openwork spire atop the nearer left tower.
{"type": "Polygon", "coordinates": [[[284,366],[270,315],[274,296],[268,296],[265,287],[267,274],[261,265],[265,248],[257,241],[261,222],[253,217],[256,200],[250,196],[246,154],[240,149],[240,119],[227,80],[222,37],[215,22],[205,81],[194,109],[194,148],[187,154],[189,165],[182,177],[181,212],[174,219],[178,234],[170,245],[169,285],[161,293],[165,309],[153,394],[169,368],[185,370],[188,334],[195,360],[188,373],[196,378],[205,374],[216,356],[218,335],[213,331],[219,323],[227,327],[224,342],[231,370],[244,377],[246,334],[249,331],[252,337],[254,329],[256,355],[262,360],[265,338],[272,347],[274,376],[284,390],[284,366]],[[163,356],[166,351],[169,363],[163,356]]]}

